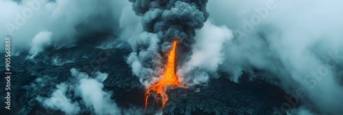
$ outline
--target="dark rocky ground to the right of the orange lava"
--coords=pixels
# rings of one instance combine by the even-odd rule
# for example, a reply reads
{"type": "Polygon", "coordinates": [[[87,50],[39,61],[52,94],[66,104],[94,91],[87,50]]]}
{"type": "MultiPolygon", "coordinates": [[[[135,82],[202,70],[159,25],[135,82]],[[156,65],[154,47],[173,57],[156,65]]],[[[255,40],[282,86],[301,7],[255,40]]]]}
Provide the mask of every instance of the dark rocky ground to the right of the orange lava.
{"type": "Polygon", "coordinates": [[[163,114],[272,114],[273,107],[285,102],[280,88],[266,83],[236,84],[226,78],[211,81],[199,92],[169,90],[163,114]]]}

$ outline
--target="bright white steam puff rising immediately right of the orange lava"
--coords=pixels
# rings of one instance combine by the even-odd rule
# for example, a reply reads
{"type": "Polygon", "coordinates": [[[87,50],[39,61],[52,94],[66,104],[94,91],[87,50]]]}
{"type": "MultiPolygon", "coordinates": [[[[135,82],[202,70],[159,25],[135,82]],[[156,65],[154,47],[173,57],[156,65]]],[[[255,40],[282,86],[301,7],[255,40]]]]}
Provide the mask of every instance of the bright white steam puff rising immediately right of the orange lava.
{"type": "MultiPolygon", "coordinates": [[[[233,38],[230,29],[225,25],[216,26],[210,21],[197,31],[196,44],[192,45],[193,54],[189,60],[178,65],[176,75],[179,81],[187,86],[206,83],[216,73],[218,66],[224,62],[224,43],[233,38]]],[[[182,55],[182,54],[180,54],[182,55]]]]}

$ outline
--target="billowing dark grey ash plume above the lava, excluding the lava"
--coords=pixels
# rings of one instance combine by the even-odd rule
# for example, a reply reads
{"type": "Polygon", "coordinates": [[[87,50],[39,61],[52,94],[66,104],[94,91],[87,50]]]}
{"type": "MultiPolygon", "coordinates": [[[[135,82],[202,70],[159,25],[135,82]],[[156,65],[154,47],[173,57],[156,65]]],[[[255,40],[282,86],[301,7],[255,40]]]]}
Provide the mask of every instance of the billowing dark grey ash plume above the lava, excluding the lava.
{"type": "MultiPolygon", "coordinates": [[[[129,0],[132,9],[142,16],[144,32],[132,44],[128,64],[132,72],[148,86],[163,70],[167,51],[173,40],[178,41],[178,53],[189,53],[195,42],[196,29],[209,17],[208,0],[129,0]]],[[[181,57],[182,58],[182,57],[181,57]]]]}

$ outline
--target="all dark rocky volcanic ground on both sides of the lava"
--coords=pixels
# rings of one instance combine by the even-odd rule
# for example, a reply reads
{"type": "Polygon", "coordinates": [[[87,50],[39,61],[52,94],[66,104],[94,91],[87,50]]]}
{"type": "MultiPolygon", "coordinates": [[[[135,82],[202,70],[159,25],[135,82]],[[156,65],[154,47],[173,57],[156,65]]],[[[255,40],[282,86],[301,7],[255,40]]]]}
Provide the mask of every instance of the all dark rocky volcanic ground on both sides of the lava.
{"type": "MultiPolygon", "coordinates": [[[[111,99],[122,109],[139,107],[143,114],[145,89],[125,62],[130,52],[129,49],[71,47],[47,49],[34,60],[26,60],[23,55],[27,54],[12,56],[12,113],[1,114],[64,114],[61,111],[46,110],[36,97],[50,97],[57,84],[73,82],[75,79],[71,77],[71,68],[77,68],[90,76],[97,71],[108,73],[104,90],[113,92],[111,99]]],[[[0,60],[3,58],[1,56],[0,60]]],[[[285,92],[281,88],[263,81],[236,84],[224,78],[226,74],[222,76],[220,79],[211,79],[206,87],[169,90],[169,101],[163,108],[163,114],[272,114],[274,106],[280,107],[285,102],[285,92]]],[[[5,82],[0,83],[5,86],[5,82]]],[[[0,91],[1,97],[5,97],[5,90],[0,91]]],[[[153,100],[150,98],[148,101],[153,100]]],[[[4,101],[1,98],[1,102],[4,101]]],[[[156,109],[152,107],[154,105],[148,104],[145,114],[153,114],[156,109]]],[[[86,107],[81,106],[81,110],[82,114],[94,114],[87,112],[86,107]]]]}

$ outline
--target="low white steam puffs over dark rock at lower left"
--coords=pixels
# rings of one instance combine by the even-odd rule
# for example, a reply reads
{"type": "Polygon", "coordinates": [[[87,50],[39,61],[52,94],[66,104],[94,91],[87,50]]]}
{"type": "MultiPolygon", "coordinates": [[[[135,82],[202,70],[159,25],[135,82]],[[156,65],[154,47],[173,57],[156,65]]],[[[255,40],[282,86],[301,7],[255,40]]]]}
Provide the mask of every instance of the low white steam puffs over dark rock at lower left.
{"type": "MultiPolygon", "coordinates": [[[[89,77],[86,73],[79,72],[72,68],[71,75],[78,80],[76,84],[61,83],[51,94],[51,97],[38,97],[38,102],[44,107],[52,110],[61,110],[65,114],[79,114],[81,105],[84,104],[88,110],[95,114],[121,114],[114,100],[110,99],[112,93],[103,90],[102,82],[107,78],[106,73],[95,73],[95,78],[89,77]],[[74,92],[75,94],[68,94],[74,92]],[[71,95],[75,95],[71,97],[71,95]],[[82,98],[81,101],[71,99],[82,98]]],[[[84,110],[82,110],[84,111],[84,110]]]]}

